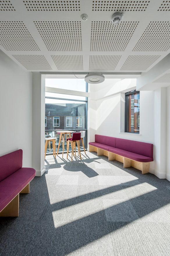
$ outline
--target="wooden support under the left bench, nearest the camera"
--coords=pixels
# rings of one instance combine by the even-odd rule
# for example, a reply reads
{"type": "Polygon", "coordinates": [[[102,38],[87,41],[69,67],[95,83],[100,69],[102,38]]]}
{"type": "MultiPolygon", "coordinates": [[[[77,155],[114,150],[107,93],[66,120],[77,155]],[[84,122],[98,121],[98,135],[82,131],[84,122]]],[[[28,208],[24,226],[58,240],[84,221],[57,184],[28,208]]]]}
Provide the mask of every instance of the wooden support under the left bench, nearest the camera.
{"type": "Polygon", "coordinates": [[[19,216],[19,194],[0,212],[0,217],[19,216]]]}

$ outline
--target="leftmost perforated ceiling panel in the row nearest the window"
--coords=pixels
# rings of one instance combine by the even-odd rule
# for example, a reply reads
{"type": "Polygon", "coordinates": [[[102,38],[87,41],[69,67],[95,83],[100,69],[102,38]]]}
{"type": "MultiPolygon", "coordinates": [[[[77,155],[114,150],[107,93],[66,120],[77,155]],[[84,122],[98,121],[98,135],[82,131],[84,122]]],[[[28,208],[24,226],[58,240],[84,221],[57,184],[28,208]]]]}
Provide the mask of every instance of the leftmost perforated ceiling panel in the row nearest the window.
{"type": "Polygon", "coordinates": [[[43,55],[13,55],[28,70],[52,70],[43,55]]]}

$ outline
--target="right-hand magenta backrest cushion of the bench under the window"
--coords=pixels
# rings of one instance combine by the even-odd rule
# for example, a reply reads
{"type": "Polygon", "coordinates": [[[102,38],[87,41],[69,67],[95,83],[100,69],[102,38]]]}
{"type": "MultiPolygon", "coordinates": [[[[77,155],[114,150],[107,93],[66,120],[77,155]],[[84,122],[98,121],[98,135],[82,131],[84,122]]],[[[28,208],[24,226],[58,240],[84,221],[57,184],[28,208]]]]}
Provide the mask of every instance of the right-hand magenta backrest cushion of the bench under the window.
{"type": "Polygon", "coordinates": [[[150,157],[153,161],[153,144],[116,138],[116,148],[150,157]]]}

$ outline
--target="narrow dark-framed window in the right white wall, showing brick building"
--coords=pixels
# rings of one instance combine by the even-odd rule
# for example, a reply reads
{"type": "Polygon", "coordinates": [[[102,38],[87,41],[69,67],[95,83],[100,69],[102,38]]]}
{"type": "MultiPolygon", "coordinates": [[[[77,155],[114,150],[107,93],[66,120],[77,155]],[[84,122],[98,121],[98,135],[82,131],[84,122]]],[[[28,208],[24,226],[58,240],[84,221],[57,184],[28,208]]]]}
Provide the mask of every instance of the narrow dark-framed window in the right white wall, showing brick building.
{"type": "Polygon", "coordinates": [[[125,132],[139,133],[140,92],[131,91],[125,93],[125,132]]]}

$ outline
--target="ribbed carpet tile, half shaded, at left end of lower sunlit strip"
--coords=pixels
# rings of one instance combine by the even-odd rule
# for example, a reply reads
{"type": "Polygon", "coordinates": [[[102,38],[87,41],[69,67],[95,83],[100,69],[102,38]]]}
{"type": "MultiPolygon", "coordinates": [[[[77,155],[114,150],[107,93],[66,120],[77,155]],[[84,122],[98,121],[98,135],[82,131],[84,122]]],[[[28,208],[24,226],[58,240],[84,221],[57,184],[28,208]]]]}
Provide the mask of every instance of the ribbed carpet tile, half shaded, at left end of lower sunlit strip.
{"type": "Polygon", "coordinates": [[[73,218],[73,205],[74,199],[51,201],[51,203],[47,203],[40,220],[71,221],[73,218]]]}

